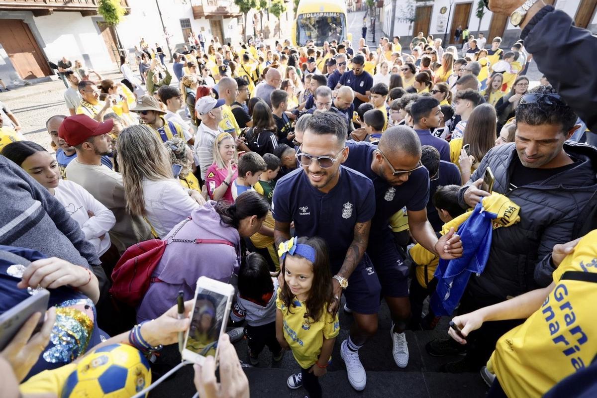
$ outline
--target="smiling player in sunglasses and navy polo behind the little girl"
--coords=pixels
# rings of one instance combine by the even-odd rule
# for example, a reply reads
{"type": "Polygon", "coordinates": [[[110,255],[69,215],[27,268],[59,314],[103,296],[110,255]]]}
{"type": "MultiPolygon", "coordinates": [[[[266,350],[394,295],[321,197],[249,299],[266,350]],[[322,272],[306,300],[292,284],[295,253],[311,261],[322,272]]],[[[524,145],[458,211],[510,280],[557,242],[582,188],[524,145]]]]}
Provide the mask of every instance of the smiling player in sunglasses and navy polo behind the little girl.
{"type": "Polygon", "coordinates": [[[336,311],[343,293],[352,308],[355,325],[341,345],[349,382],[365,388],[367,375],[358,349],[377,332],[381,286],[365,255],[375,214],[375,192],[370,178],[341,165],[348,156],[346,121],[337,113],[313,115],[303,134],[301,168],[276,184],[272,214],[276,245],[290,239],[294,221],[297,236],[319,236],[328,245],[336,311]],[[344,289],[344,290],[343,290],[344,289]]]}

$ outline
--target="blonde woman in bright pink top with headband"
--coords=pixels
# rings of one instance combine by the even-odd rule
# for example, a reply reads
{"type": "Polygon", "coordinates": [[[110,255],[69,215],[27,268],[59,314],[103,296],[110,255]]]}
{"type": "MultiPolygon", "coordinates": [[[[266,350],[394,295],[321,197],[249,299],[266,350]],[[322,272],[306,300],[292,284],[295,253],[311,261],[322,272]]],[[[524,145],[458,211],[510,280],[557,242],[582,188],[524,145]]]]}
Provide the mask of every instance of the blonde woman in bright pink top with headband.
{"type": "Polygon", "coordinates": [[[234,203],[230,185],[238,176],[236,171],[238,158],[232,135],[227,132],[220,133],[214,140],[213,151],[214,162],[205,172],[207,195],[212,200],[223,199],[226,202],[234,203]]]}

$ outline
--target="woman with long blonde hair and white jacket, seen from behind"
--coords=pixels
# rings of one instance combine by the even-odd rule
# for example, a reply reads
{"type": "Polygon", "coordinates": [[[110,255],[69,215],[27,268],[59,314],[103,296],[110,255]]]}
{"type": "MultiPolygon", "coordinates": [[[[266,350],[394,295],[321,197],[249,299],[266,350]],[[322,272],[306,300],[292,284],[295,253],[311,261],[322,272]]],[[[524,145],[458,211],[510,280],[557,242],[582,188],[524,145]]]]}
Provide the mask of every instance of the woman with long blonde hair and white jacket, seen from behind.
{"type": "Polygon", "coordinates": [[[199,192],[183,189],[174,179],[164,143],[149,127],[125,128],[116,148],[127,209],[145,217],[155,236],[164,239],[193,209],[204,205],[199,192]]]}

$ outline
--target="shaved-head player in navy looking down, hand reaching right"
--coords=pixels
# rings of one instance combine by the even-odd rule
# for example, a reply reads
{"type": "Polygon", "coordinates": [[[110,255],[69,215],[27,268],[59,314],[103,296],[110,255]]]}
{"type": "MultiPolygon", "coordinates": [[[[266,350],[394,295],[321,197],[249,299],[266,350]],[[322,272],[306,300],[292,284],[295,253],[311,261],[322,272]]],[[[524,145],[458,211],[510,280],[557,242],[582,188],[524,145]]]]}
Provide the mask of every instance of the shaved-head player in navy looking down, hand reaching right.
{"type": "Polygon", "coordinates": [[[396,365],[405,368],[408,345],[404,329],[410,318],[408,267],[394,243],[390,217],[406,206],[411,235],[441,258],[460,257],[462,243],[454,230],[438,240],[427,221],[429,172],[421,164],[421,143],[412,128],[387,129],[377,146],[354,141],[348,141],[346,146],[350,152],[344,166],[367,175],[375,187],[376,214],[371,221],[367,254],[373,261],[381,294],[392,315],[392,354],[396,365]]]}

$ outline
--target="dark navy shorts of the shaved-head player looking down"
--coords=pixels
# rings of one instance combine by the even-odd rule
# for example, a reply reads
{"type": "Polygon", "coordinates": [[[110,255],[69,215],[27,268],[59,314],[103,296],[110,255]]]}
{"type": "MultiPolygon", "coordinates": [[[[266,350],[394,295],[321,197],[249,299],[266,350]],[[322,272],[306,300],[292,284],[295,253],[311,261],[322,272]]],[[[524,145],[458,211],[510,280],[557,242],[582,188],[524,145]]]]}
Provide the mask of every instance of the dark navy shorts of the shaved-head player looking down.
{"type": "Polygon", "coordinates": [[[367,254],[381,283],[381,295],[408,297],[408,266],[396,248],[390,229],[369,237],[367,254]]]}

